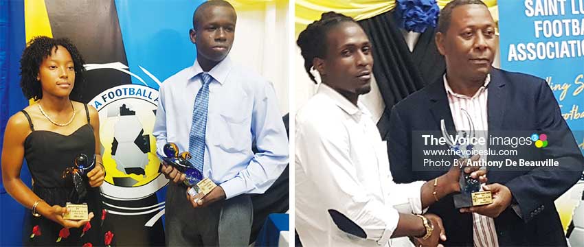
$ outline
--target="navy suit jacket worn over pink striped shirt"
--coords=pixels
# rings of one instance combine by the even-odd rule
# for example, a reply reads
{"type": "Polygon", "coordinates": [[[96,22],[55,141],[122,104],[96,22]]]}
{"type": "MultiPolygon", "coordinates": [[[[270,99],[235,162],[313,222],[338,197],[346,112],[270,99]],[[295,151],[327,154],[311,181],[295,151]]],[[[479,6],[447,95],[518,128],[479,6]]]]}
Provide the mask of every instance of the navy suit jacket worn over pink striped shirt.
{"type": "MultiPolygon", "coordinates": [[[[550,87],[540,78],[499,69],[491,71],[488,84],[488,131],[537,130],[553,132],[554,140],[542,148],[545,157],[559,167],[537,167],[524,172],[489,172],[488,183],[506,185],[513,193],[521,217],[508,207],[495,218],[500,246],[566,246],[554,200],[581,177],[584,156],[561,116],[550,87]]],[[[442,78],[396,104],[390,118],[388,152],[396,183],[431,180],[445,172],[412,171],[412,132],[438,131],[440,119],[448,130],[454,124],[442,78]]],[[[469,213],[454,208],[446,196],[429,208],[442,217],[446,246],[472,246],[473,225],[469,213]]]]}

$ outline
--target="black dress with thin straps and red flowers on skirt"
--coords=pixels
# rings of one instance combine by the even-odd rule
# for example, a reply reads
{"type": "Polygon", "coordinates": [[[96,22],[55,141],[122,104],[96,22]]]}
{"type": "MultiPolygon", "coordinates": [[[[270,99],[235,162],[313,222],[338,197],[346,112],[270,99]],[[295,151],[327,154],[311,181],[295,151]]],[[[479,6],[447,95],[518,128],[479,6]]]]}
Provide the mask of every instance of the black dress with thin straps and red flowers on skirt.
{"type": "MultiPolygon", "coordinates": [[[[96,150],[96,139],[93,136],[93,128],[89,124],[89,112],[85,105],[87,124],[78,128],[69,135],[58,134],[47,130],[34,130],[34,125],[25,110],[22,112],[27,117],[32,132],[24,142],[25,158],[32,175],[34,184],[32,191],[49,205],[65,207],[67,202],[73,202],[77,198],[73,182],[63,178],[63,172],[68,167],[74,167],[74,160],[80,153],[93,157],[96,150]]],[[[70,177],[70,176],[69,176],[70,177]]],[[[85,181],[87,185],[87,181],[85,181]]],[[[83,233],[82,228],[70,228],[69,236],[63,226],[48,220],[47,218],[34,217],[30,210],[25,213],[23,229],[23,245],[25,246],[83,246],[90,243],[92,246],[104,245],[104,233],[102,231],[102,198],[99,188],[86,186],[87,196],[81,202],[86,202],[89,212],[95,215],[91,222],[91,228],[83,233]],[[34,229],[34,230],[33,230],[34,229]],[[41,235],[34,233],[40,231],[41,235]],[[81,236],[83,235],[83,236],[81,236]]]]}

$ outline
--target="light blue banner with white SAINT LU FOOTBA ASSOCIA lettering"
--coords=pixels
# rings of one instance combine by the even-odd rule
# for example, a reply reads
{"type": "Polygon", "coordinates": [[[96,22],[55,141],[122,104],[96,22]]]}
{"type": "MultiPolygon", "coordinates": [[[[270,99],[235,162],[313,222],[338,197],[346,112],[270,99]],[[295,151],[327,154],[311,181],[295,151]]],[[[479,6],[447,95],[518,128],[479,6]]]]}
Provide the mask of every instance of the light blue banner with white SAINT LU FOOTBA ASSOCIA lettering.
{"type": "MultiPolygon", "coordinates": [[[[545,79],[584,152],[584,1],[499,3],[501,67],[545,79]]],[[[584,180],[556,201],[568,228],[584,180]]],[[[584,208],[580,208],[584,209],[584,208]]],[[[582,244],[582,243],[580,243],[582,244]]]]}

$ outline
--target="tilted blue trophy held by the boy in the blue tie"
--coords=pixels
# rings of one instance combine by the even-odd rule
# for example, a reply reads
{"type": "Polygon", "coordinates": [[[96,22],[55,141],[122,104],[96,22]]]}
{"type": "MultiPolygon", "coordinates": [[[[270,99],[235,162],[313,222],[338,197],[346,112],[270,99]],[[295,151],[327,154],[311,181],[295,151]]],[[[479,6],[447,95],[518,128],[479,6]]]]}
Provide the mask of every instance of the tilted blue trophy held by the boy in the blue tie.
{"type": "Polygon", "coordinates": [[[158,154],[159,158],[185,174],[186,178],[183,183],[189,187],[187,193],[195,202],[217,187],[209,178],[203,178],[203,171],[199,171],[190,163],[191,155],[189,152],[179,153],[179,147],[175,143],[166,143],[162,150],[164,156],[158,154]]]}

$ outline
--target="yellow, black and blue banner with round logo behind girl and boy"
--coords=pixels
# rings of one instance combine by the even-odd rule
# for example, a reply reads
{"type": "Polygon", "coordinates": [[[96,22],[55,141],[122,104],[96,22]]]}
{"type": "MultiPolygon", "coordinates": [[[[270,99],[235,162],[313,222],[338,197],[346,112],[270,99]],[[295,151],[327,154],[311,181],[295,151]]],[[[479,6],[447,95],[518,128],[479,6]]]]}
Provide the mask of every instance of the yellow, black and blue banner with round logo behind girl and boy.
{"type": "MultiPolygon", "coordinates": [[[[158,89],[166,78],[194,62],[196,50],[188,31],[192,28],[192,14],[202,2],[8,1],[11,5],[24,5],[14,8],[24,16],[24,25],[11,27],[10,33],[26,34],[21,36],[19,49],[7,51],[9,56],[19,58],[28,40],[45,35],[71,39],[87,62],[82,101],[95,107],[100,115],[106,169],[102,185],[107,211],[104,228],[114,233],[115,245],[164,246],[168,180],[160,172],[152,135],[158,89]]],[[[18,65],[18,60],[10,63],[18,65]]],[[[19,72],[18,66],[11,65],[10,69],[19,72]]],[[[19,78],[7,83],[19,89],[19,78]]],[[[23,101],[22,93],[16,95],[23,101]]],[[[3,105],[8,98],[4,96],[3,105]]],[[[12,209],[2,205],[1,218],[5,219],[12,209]]],[[[22,208],[18,203],[8,206],[19,211],[22,208]]],[[[21,225],[12,222],[12,226],[21,225]]],[[[5,235],[4,231],[1,234],[1,239],[15,236],[5,235]]]]}

